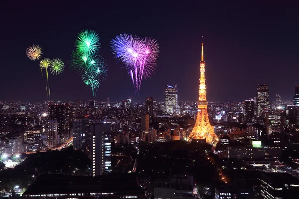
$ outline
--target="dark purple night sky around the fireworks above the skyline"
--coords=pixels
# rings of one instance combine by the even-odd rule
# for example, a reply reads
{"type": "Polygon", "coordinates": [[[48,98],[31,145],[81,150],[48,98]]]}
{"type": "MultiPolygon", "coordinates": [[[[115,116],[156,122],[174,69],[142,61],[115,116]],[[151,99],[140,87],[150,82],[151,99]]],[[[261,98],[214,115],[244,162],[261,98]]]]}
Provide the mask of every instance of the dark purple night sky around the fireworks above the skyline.
{"type": "Polygon", "coordinates": [[[152,96],[162,101],[164,85],[177,84],[179,101],[196,101],[202,35],[209,101],[247,100],[258,83],[269,84],[271,100],[276,93],[292,100],[299,85],[299,4],[211,1],[2,3],[0,100],[47,100],[39,62],[25,53],[33,44],[42,46],[43,56],[59,57],[66,65],[61,75],[50,76],[50,100],[92,100],[91,90],[68,65],[76,36],[85,28],[100,35],[100,53],[109,66],[95,100],[152,96]],[[160,45],[156,73],[142,81],[139,95],[110,51],[110,40],[120,33],[151,36],[160,45]]]}

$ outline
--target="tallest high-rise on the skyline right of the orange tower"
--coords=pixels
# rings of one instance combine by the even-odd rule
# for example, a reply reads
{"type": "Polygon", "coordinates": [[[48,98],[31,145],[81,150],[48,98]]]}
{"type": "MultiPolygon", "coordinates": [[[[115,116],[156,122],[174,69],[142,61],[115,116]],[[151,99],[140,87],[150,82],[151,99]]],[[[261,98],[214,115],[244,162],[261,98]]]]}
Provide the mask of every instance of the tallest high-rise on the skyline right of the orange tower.
{"type": "Polygon", "coordinates": [[[268,84],[258,84],[257,87],[257,117],[269,109],[269,90],[268,84]]]}

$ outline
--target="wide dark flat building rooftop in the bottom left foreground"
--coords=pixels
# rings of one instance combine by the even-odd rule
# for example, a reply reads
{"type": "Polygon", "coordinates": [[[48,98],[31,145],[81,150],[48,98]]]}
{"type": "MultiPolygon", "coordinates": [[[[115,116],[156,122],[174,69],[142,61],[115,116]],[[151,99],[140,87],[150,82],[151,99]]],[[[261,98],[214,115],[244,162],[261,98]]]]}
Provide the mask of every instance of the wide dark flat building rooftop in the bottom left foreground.
{"type": "Polygon", "coordinates": [[[41,175],[23,196],[49,193],[142,192],[135,174],[109,174],[104,176],[41,175]]]}

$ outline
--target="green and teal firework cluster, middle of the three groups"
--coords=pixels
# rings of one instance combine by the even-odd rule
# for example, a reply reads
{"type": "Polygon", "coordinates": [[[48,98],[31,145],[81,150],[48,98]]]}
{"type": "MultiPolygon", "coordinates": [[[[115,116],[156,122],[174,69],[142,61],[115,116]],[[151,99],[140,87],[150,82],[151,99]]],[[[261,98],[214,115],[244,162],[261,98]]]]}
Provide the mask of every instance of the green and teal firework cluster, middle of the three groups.
{"type": "Polygon", "coordinates": [[[99,35],[92,30],[81,31],[76,39],[70,66],[81,75],[84,84],[90,86],[95,97],[100,81],[107,75],[107,65],[98,54],[100,48],[99,35]]]}

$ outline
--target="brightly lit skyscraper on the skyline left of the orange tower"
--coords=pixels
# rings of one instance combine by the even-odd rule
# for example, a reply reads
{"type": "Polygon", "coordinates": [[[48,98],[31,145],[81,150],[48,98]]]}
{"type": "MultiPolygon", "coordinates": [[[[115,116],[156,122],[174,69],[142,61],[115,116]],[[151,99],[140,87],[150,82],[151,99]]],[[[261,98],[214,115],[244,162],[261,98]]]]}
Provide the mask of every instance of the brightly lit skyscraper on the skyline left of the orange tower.
{"type": "Polygon", "coordinates": [[[177,98],[177,85],[165,85],[165,110],[167,113],[178,113],[177,98]]]}

